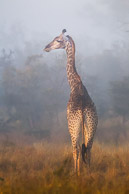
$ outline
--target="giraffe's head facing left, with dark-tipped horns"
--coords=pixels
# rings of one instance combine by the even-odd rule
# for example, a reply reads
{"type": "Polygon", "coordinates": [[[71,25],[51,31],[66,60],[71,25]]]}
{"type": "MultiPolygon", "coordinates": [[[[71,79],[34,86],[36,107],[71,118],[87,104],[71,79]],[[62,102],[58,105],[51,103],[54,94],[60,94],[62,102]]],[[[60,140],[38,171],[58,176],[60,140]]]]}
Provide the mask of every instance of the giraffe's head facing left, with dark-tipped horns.
{"type": "Polygon", "coordinates": [[[65,49],[66,41],[68,40],[67,36],[65,36],[66,30],[62,30],[60,36],[54,38],[52,42],[50,42],[45,48],[44,51],[49,52],[54,49],[65,49]]]}

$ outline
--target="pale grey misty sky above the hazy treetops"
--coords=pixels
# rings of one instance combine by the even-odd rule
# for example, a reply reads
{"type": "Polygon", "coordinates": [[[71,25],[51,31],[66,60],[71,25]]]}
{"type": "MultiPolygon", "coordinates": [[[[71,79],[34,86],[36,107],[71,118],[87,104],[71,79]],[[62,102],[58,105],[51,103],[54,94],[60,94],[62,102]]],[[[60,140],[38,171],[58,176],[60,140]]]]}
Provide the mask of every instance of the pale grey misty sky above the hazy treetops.
{"type": "Polygon", "coordinates": [[[101,53],[129,42],[129,0],[0,0],[0,48],[46,44],[67,29],[76,50],[101,53]]]}

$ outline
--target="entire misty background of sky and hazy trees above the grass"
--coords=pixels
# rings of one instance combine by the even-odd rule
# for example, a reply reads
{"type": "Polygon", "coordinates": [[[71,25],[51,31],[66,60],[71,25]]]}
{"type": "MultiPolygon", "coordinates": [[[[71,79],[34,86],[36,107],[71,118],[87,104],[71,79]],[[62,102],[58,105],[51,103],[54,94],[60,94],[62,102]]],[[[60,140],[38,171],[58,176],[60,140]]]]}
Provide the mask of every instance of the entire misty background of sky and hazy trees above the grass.
{"type": "Polygon", "coordinates": [[[66,53],[43,48],[62,29],[99,115],[98,141],[129,138],[129,1],[0,0],[0,133],[69,141],[66,53]]]}

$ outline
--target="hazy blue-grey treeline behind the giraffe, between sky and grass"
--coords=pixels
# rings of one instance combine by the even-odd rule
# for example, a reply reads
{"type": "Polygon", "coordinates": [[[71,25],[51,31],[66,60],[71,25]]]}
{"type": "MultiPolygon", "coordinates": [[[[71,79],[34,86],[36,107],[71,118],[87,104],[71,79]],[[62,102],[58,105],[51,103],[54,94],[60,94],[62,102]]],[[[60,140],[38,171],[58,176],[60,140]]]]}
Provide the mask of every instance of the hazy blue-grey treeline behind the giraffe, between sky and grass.
{"type": "MultiPolygon", "coordinates": [[[[128,137],[128,52],[126,46],[114,45],[96,56],[77,53],[77,70],[99,114],[98,140],[119,143],[128,137]]],[[[23,131],[37,138],[68,135],[66,55],[59,53],[1,51],[1,132],[23,131]]]]}

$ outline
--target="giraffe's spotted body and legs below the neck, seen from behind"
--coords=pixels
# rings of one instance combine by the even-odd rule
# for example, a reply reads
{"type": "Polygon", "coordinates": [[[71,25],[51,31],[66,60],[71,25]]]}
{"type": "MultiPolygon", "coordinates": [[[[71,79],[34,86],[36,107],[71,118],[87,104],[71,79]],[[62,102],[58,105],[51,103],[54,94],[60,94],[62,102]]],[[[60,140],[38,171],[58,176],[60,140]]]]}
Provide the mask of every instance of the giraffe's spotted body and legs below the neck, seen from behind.
{"type": "Polygon", "coordinates": [[[75,90],[70,94],[70,99],[67,105],[67,120],[73,146],[75,170],[77,169],[79,172],[79,165],[77,166],[77,161],[80,160],[79,142],[82,127],[84,127],[85,144],[85,150],[84,153],[82,151],[82,157],[83,161],[90,165],[90,151],[98,122],[95,105],[82,83],[78,84],[75,90]]]}

